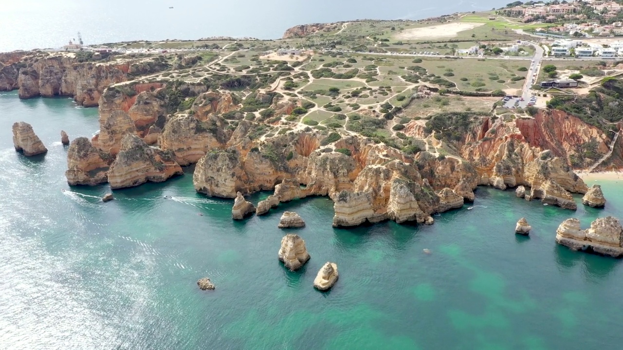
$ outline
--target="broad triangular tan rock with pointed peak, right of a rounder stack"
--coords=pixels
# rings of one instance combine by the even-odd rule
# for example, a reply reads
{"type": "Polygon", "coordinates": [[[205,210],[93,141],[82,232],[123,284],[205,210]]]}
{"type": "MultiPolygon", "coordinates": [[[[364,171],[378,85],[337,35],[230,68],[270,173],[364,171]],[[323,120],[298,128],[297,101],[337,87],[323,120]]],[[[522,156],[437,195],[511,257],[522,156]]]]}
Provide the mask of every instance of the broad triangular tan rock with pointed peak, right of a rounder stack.
{"type": "Polygon", "coordinates": [[[117,158],[108,171],[110,188],[138,186],[145,182],[162,182],[183,174],[173,154],[151,148],[136,135],[127,134],[121,140],[117,158]]]}

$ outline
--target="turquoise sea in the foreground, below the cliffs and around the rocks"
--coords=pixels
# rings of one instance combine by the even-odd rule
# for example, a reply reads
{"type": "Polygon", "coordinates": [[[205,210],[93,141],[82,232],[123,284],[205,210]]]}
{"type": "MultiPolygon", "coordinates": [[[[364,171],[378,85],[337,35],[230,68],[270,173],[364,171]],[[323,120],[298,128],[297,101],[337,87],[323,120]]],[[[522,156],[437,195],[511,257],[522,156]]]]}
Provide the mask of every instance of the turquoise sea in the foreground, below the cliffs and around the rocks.
{"type": "Polygon", "coordinates": [[[233,222],[232,201],[194,192],[192,168],[115,191],[107,204],[99,198],[108,186],[69,187],[60,130],[73,139],[97,128],[95,108],[0,93],[0,348],[621,346],[623,262],[554,242],[568,217],[584,228],[604,215],[623,219],[616,181],[599,182],[603,210],[573,212],[479,187],[473,210],[437,215],[432,226],[333,229],[325,197],[233,222]],[[49,152],[16,153],[14,121],[31,123],[49,152]],[[284,210],[307,222],[294,232],[312,258],[298,272],[277,260],[284,210]],[[533,226],[530,237],[514,234],[520,217],[533,226]],[[313,278],[329,260],[340,280],[320,293],[313,278]],[[201,277],[216,291],[200,291],[201,277]]]}

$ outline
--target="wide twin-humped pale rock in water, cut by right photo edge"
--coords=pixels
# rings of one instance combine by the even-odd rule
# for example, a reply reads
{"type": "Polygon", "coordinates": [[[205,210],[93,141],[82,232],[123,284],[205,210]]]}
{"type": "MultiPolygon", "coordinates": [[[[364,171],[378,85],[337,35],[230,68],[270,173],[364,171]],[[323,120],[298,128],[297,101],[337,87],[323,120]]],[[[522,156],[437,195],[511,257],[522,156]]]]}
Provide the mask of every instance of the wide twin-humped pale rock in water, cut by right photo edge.
{"type": "Polygon", "coordinates": [[[578,219],[567,219],[556,230],[556,242],[573,250],[592,250],[611,257],[623,256],[623,228],[616,217],[594,220],[588,230],[578,219]]]}

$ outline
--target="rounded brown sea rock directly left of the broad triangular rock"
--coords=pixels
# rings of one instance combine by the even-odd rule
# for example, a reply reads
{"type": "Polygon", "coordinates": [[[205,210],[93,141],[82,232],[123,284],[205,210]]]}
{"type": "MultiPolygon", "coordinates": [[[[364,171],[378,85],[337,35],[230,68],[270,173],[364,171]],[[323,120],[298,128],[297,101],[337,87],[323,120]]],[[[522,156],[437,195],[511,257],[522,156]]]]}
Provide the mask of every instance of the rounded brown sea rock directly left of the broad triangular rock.
{"type": "Polygon", "coordinates": [[[95,148],[88,138],[72,141],[67,150],[67,183],[72,186],[96,186],[108,181],[108,169],[112,157],[95,148]]]}

